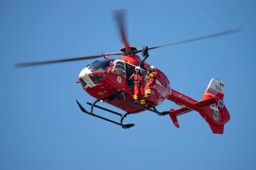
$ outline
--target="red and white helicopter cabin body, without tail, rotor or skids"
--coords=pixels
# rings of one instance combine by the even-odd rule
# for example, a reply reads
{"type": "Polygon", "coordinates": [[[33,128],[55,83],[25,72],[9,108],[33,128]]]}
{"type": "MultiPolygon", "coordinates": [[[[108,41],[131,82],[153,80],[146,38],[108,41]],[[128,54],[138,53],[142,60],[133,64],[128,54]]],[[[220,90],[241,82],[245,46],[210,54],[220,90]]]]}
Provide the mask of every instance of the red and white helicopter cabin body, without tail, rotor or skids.
{"type": "MultiPolygon", "coordinates": [[[[134,73],[134,68],[141,63],[138,55],[126,55],[118,60],[106,59],[102,61],[95,61],[85,67],[79,74],[79,81],[83,89],[96,99],[102,99],[104,102],[120,108],[126,112],[138,113],[143,110],[124,101],[120,101],[113,97],[114,90],[126,92],[131,94],[127,96],[127,100],[133,102],[132,95],[134,94],[134,85],[130,76],[134,73]]],[[[145,69],[141,69],[144,76],[147,74],[147,67],[150,65],[145,63],[145,69]]],[[[170,95],[170,83],[159,69],[157,71],[156,83],[152,86],[152,95],[148,101],[156,103],[157,105],[163,103],[170,95]]],[[[145,79],[146,80],[146,79],[145,79]]],[[[146,85],[143,83],[143,87],[146,85]]],[[[143,96],[139,96],[143,99],[143,96]]],[[[145,103],[150,105],[152,103],[145,103]]]]}

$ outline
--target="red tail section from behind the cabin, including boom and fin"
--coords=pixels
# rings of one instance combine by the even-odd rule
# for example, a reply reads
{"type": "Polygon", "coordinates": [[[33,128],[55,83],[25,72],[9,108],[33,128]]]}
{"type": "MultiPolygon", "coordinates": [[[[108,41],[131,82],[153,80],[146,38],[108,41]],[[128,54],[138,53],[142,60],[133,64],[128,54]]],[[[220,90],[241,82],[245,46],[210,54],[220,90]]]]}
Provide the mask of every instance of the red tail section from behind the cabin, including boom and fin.
{"type": "Polygon", "coordinates": [[[173,121],[173,124],[176,127],[179,127],[177,116],[195,110],[198,111],[209,124],[213,133],[223,134],[224,125],[228,122],[228,120],[230,120],[230,115],[223,103],[225,84],[220,82],[221,81],[219,80],[212,79],[201,101],[191,99],[190,97],[180,94],[172,89],[168,100],[173,101],[182,107],[177,110],[170,110],[169,115],[173,121]],[[219,84],[220,87],[216,87],[217,90],[212,90],[212,87],[219,84]]]}

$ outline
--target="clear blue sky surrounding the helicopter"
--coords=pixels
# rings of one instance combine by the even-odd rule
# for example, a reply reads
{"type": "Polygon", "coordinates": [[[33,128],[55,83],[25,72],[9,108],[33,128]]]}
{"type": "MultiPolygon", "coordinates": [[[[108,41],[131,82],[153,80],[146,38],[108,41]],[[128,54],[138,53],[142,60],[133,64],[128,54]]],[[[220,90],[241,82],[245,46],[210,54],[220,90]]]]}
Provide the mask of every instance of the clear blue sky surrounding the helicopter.
{"type": "MultiPolygon", "coordinates": [[[[0,169],[255,169],[255,7],[255,1],[0,1],[0,169]],[[231,118],[224,134],[212,134],[195,111],[178,117],[180,129],[148,111],[126,118],[136,124],[131,129],[85,115],[76,99],[86,108],[94,99],[76,81],[93,60],[13,67],[117,52],[123,45],[112,10],[120,8],[127,9],[127,37],[137,48],[243,27],[152,50],[147,59],[172,89],[182,87],[196,100],[211,78],[227,82],[231,118]]],[[[179,106],[165,101],[158,110],[170,108],[179,106]]]]}

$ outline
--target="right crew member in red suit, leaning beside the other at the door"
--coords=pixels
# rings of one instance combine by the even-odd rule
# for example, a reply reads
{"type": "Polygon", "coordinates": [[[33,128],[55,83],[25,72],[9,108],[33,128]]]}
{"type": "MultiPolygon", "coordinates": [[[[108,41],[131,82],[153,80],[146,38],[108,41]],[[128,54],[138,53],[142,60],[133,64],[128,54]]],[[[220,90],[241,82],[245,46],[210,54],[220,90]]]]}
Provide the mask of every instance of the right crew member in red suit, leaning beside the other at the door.
{"type": "Polygon", "coordinates": [[[154,66],[150,66],[148,70],[148,74],[146,75],[147,85],[145,86],[145,96],[144,98],[150,97],[151,89],[150,87],[156,83],[157,71],[154,66]]]}

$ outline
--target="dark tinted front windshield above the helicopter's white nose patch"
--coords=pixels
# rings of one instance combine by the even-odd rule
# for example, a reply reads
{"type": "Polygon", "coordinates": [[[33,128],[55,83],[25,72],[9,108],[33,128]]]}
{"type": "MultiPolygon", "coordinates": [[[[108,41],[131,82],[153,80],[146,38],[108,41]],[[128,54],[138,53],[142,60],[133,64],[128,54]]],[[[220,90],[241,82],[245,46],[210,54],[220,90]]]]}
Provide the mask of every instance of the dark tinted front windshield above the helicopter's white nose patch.
{"type": "Polygon", "coordinates": [[[95,60],[92,64],[88,66],[88,69],[94,72],[105,72],[109,67],[109,62],[115,59],[108,59],[108,60],[95,60]]]}

